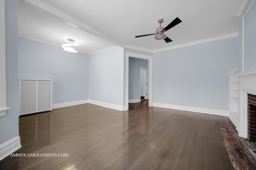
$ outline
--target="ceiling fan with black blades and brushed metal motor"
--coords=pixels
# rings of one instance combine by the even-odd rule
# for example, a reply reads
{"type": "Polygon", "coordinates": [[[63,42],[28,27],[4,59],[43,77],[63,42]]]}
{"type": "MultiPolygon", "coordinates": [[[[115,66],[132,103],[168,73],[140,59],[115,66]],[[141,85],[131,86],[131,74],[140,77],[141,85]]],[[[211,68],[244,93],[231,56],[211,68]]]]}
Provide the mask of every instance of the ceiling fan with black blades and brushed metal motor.
{"type": "Polygon", "coordinates": [[[160,23],[160,26],[156,29],[156,33],[154,34],[146,34],[146,35],[137,35],[135,38],[138,37],[145,37],[148,35],[155,35],[155,39],[160,40],[160,39],[164,39],[164,41],[166,43],[170,43],[172,40],[170,38],[168,38],[164,32],[168,31],[169,29],[171,29],[172,27],[174,27],[175,25],[178,25],[179,23],[181,23],[182,21],[177,17],[175,18],[171,23],[169,23],[169,25],[167,25],[167,27],[162,27],[161,23],[163,22],[163,19],[159,19],[158,22],[160,23]]]}

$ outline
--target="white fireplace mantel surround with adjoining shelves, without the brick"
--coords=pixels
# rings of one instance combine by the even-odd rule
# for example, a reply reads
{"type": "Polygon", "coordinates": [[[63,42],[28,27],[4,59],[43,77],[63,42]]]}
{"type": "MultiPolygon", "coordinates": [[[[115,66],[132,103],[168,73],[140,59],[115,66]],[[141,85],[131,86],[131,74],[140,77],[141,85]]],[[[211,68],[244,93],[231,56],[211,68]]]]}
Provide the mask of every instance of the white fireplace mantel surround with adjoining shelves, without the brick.
{"type": "Polygon", "coordinates": [[[230,82],[230,87],[235,84],[237,90],[232,91],[230,89],[230,101],[233,103],[230,105],[229,117],[236,126],[238,135],[247,138],[247,94],[256,95],[256,68],[239,73],[234,70],[237,70],[237,67],[230,70],[230,80],[236,79],[237,81],[230,82]],[[234,97],[231,96],[234,96],[234,94],[237,96],[237,103],[234,102],[234,97]],[[232,109],[234,110],[236,104],[238,108],[236,107],[237,112],[234,112],[232,109]]]}

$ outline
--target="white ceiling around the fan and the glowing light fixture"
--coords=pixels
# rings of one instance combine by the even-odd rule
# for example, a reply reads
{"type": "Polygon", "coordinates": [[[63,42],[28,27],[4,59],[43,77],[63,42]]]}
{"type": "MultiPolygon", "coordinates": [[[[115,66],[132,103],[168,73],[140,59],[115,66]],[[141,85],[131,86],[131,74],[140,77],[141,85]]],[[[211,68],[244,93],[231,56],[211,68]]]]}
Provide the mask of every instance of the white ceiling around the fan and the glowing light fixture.
{"type": "Polygon", "coordinates": [[[233,36],[245,0],[18,0],[18,35],[60,46],[76,39],[84,53],[115,46],[160,51],[174,46],[233,36]],[[161,3],[160,3],[161,2],[161,3]],[[155,40],[158,19],[173,41],[155,40]]]}

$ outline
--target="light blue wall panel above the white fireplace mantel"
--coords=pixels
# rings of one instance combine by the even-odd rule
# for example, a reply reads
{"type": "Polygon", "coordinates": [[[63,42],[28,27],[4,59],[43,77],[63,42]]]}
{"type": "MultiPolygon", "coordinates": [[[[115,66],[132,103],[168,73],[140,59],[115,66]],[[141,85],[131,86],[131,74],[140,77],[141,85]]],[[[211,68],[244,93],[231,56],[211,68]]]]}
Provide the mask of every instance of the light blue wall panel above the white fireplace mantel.
{"type": "Polygon", "coordinates": [[[256,2],[244,16],[244,71],[253,68],[256,68],[256,2]]]}

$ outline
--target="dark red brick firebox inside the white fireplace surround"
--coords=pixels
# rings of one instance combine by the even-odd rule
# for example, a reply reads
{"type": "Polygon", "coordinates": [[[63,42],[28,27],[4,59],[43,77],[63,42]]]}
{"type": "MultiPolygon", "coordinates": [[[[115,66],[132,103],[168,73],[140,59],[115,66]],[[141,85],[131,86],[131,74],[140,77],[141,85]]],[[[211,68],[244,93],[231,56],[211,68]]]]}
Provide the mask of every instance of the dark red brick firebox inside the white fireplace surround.
{"type": "Polygon", "coordinates": [[[248,134],[247,139],[250,142],[256,142],[256,95],[248,94],[248,134]]]}

